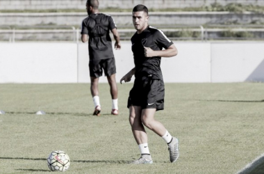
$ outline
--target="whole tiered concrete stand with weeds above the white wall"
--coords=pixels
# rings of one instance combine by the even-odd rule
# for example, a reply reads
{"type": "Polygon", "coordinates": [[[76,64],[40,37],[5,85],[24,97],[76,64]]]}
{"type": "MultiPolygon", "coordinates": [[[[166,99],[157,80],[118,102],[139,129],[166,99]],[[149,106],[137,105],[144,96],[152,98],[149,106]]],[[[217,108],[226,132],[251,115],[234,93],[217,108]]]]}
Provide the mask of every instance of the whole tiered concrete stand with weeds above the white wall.
{"type": "MultiPolygon", "coordinates": [[[[79,32],[81,21],[86,16],[85,1],[1,0],[0,41],[76,41],[76,32],[79,32]],[[57,10],[56,13],[27,11],[52,11],[52,9],[57,10]],[[59,13],[58,10],[61,9],[66,9],[66,12],[59,13]],[[76,11],[67,12],[67,9],[76,11]]],[[[235,10],[240,10],[236,8],[240,6],[264,7],[264,1],[260,0],[100,0],[100,9],[106,11],[113,8],[130,9],[138,3],[144,3],[150,11],[156,9],[149,13],[149,24],[162,29],[174,40],[263,40],[264,38],[264,13],[210,11],[231,3],[233,3],[231,8],[235,10]],[[210,9],[204,8],[205,6],[210,6],[210,9]],[[183,11],[175,11],[176,8],[182,8],[183,11]],[[203,8],[208,11],[184,11],[186,8],[203,8]],[[170,11],[165,12],[164,9],[170,11]]],[[[131,13],[109,12],[108,14],[114,17],[122,40],[129,39],[134,33],[131,13]]]]}

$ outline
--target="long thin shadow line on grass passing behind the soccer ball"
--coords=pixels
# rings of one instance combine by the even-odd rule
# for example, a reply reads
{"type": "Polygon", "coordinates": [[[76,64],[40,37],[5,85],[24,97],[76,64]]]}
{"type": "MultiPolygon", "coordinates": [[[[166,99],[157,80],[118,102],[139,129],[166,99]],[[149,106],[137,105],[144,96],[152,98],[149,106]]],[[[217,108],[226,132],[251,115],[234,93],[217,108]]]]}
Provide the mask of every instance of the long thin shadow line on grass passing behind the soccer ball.
{"type": "MultiPolygon", "coordinates": [[[[19,158],[19,157],[0,157],[0,159],[18,159],[18,160],[40,160],[46,161],[46,158],[19,158]]],[[[71,162],[79,162],[79,163],[110,163],[110,164],[129,164],[130,161],[124,160],[71,160],[71,162]]],[[[17,169],[17,170],[25,170],[25,169],[17,169]]],[[[31,170],[31,169],[29,169],[31,170]]]]}

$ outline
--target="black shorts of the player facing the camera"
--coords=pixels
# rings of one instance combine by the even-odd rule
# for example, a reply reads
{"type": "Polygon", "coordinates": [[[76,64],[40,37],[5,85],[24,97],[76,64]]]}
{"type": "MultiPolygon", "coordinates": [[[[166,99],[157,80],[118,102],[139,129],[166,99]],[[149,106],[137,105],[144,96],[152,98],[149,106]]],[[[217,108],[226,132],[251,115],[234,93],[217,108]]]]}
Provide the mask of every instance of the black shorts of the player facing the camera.
{"type": "Polygon", "coordinates": [[[164,82],[160,79],[151,79],[146,77],[143,79],[135,79],[133,88],[129,93],[129,106],[141,106],[142,109],[164,109],[164,82]]]}

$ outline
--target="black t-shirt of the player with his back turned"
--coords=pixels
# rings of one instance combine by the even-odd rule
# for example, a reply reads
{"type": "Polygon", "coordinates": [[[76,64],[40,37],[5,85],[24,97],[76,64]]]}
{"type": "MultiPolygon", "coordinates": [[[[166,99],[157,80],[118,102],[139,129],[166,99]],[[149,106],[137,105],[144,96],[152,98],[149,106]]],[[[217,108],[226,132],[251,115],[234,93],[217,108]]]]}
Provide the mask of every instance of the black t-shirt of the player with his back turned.
{"type": "Polygon", "coordinates": [[[113,18],[103,13],[91,14],[83,19],[81,34],[89,35],[90,60],[114,57],[109,31],[115,28],[113,18]]]}

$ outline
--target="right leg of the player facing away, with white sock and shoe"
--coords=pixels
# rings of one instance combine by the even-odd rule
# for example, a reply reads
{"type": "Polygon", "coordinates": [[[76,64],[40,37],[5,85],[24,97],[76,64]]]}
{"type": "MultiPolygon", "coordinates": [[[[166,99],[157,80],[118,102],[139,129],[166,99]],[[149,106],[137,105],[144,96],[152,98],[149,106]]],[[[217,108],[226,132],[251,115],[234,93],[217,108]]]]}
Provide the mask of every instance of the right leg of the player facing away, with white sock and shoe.
{"type": "Polygon", "coordinates": [[[115,74],[107,77],[108,84],[110,86],[110,94],[112,97],[112,115],[118,115],[118,105],[117,105],[117,82],[115,80],[115,74]]]}

